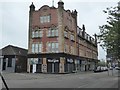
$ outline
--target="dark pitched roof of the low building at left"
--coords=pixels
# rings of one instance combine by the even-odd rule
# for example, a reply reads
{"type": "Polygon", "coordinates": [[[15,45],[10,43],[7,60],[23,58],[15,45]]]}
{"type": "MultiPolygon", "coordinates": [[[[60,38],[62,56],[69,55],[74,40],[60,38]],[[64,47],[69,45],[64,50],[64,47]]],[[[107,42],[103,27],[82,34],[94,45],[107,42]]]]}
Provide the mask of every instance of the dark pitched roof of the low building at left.
{"type": "Polygon", "coordinates": [[[27,56],[27,49],[23,49],[20,47],[8,45],[0,50],[2,55],[20,55],[20,56],[27,56]]]}

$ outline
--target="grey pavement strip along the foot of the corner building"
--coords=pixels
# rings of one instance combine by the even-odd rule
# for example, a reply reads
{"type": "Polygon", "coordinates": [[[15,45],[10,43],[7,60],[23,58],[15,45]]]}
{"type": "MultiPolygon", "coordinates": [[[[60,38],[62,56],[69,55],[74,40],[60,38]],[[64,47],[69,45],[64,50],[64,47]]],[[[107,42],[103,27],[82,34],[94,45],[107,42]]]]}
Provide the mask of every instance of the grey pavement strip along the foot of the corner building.
{"type": "Polygon", "coordinates": [[[10,73],[10,72],[2,72],[5,80],[34,80],[34,79],[45,79],[45,78],[55,78],[62,76],[71,76],[77,74],[90,74],[93,71],[87,72],[78,72],[78,73],[70,73],[70,74],[43,74],[43,73],[10,73]]]}

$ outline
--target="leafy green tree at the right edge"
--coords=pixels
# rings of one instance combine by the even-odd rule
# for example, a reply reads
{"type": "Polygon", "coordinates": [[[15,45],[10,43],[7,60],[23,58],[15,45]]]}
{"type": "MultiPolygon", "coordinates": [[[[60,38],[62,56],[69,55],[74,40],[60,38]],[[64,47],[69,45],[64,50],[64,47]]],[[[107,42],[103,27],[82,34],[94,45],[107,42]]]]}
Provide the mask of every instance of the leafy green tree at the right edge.
{"type": "Polygon", "coordinates": [[[109,57],[120,60],[120,2],[118,6],[103,10],[108,14],[107,24],[99,26],[100,33],[97,35],[109,57]]]}

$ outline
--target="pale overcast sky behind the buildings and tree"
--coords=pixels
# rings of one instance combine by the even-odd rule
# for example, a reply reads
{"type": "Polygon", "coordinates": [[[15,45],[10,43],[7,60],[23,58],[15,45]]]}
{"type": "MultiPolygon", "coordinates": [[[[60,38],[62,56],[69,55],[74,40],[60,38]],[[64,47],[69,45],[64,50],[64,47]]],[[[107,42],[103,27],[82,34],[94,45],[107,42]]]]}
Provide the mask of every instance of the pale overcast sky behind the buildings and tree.
{"type": "MultiPolygon", "coordinates": [[[[52,6],[53,0],[0,0],[0,49],[7,45],[28,48],[29,6],[33,2],[38,10],[43,5],[52,6]]],[[[59,0],[54,0],[57,7],[59,0]]],[[[62,0],[65,10],[77,10],[78,26],[84,24],[93,36],[99,26],[106,24],[103,10],[117,6],[120,0],[62,0]]],[[[106,52],[98,45],[98,59],[106,59],[106,52]]]]}

